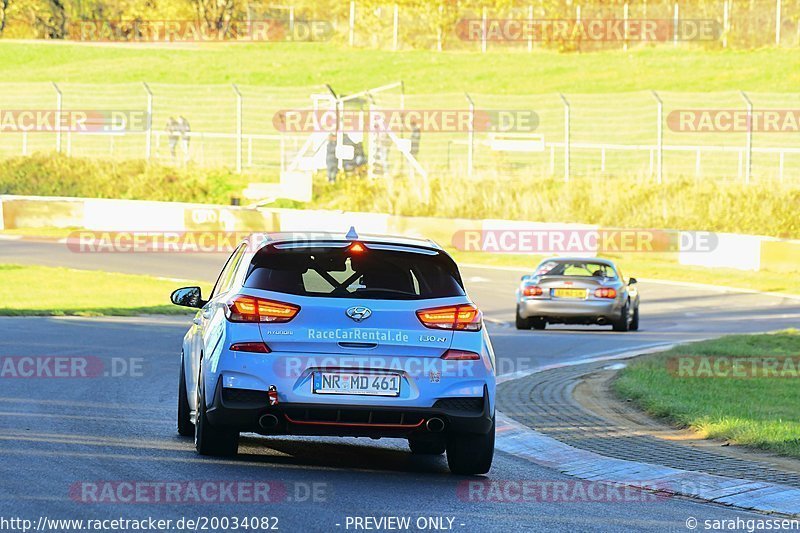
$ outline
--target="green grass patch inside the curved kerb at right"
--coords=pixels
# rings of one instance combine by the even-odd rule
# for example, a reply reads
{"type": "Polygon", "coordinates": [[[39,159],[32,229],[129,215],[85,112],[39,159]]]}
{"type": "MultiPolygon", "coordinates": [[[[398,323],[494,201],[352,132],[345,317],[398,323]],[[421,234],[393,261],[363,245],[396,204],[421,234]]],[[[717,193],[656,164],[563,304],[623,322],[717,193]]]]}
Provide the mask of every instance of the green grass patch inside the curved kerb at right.
{"type": "Polygon", "coordinates": [[[710,439],[800,457],[796,377],[677,377],[668,360],[680,356],[800,357],[800,331],[732,335],[639,358],[620,373],[614,388],[650,415],[710,439]]]}

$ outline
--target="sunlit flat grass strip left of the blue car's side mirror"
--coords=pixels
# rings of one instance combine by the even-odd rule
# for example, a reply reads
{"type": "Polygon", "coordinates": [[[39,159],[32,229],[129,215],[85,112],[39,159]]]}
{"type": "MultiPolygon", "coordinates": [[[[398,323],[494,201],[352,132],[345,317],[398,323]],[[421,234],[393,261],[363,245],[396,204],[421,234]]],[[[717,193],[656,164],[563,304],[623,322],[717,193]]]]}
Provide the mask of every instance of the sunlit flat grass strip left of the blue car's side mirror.
{"type": "Polygon", "coordinates": [[[0,315],[5,316],[133,316],[186,314],[169,302],[178,287],[200,285],[151,276],[113,274],[43,266],[0,265],[5,289],[0,315]]]}

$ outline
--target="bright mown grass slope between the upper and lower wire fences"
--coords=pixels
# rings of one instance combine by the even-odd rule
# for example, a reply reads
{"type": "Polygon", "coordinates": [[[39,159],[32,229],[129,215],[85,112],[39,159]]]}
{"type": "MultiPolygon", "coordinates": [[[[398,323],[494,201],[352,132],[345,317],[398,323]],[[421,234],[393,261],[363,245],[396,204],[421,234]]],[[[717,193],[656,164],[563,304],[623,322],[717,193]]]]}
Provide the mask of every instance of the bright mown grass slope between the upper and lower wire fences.
{"type": "Polygon", "coordinates": [[[330,83],[353,92],[402,79],[409,93],[541,94],[664,91],[790,92],[800,84],[793,49],[709,51],[641,47],[560,54],[496,50],[390,52],[331,43],[95,45],[0,41],[0,78],[14,82],[267,85],[330,83]],[[312,68],[309,68],[309,65],[312,68]]]}

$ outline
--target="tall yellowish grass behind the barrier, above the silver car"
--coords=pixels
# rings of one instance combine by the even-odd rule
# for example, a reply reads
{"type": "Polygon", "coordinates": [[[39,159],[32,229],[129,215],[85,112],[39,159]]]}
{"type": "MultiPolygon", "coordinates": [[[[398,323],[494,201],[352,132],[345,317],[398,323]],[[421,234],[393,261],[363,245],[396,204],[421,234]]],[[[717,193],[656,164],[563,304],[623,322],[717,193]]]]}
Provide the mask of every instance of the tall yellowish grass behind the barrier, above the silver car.
{"type": "Polygon", "coordinates": [[[671,228],[800,238],[800,185],[721,184],[679,180],[657,185],[624,178],[565,184],[559,179],[431,180],[421,184],[348,180],[315,184],[308,207],[409,216],[581,222],[617,228],[671,228]],[[743,198],[747,198],[746,208],[743,198]]]}

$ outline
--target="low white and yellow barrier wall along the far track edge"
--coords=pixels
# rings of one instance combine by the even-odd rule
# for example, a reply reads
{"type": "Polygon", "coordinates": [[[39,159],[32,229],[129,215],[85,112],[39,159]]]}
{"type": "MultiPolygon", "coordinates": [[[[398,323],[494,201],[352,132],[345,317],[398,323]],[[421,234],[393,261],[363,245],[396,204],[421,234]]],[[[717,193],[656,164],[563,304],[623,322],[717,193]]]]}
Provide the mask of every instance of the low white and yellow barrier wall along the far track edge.
{"type": "MultiPolygon", "coordinates": [[[[586,231],[595,225],[518,220],[409,217],[386,213],[277,209],[143,200],[0,195],[0,230],[85,228],[94,231],[332,231],[355,226],[362,233],[433,239],[453,246],[464,231],[586,231]]],[[[800,240],[715,234],[711,251],[667,255],[684,265],[740,270],[798,272],[800,240]]]]}

